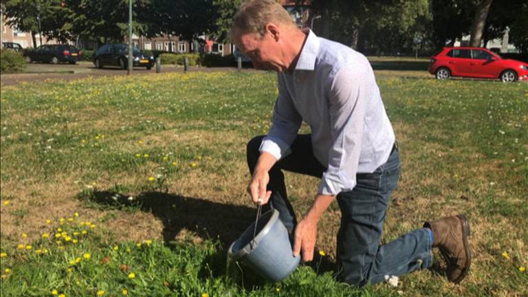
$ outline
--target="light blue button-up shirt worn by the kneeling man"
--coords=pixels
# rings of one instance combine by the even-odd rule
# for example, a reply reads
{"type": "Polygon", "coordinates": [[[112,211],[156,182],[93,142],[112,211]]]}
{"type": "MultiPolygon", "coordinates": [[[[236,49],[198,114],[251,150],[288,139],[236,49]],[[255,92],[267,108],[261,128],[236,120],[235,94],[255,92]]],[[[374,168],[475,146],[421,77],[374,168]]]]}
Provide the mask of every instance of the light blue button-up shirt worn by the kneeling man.
{"type": "Polygon", "coordinates": [[[314,156],[327,168],[323,195],[352,190],[356,173],[373,173],[395,142],[369,61],[311,31],[293,73],[278,74],[272,126],[260,151],[285,157],[303,120],[311,128],[314,156]]]}

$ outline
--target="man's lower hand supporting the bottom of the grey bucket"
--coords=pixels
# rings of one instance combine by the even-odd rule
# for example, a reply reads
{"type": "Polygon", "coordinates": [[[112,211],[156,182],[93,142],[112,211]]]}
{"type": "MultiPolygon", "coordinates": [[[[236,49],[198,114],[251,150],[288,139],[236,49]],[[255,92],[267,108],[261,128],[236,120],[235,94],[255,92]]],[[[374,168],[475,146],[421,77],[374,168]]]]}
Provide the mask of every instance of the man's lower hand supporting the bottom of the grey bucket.
{"type": "Polygon", "coordinates": [[[303,261],[314,259],[314,248],[317,238],[317,221],[308,217],[301,220],[295,228],[294,256],[303,250],[303,261]]]}

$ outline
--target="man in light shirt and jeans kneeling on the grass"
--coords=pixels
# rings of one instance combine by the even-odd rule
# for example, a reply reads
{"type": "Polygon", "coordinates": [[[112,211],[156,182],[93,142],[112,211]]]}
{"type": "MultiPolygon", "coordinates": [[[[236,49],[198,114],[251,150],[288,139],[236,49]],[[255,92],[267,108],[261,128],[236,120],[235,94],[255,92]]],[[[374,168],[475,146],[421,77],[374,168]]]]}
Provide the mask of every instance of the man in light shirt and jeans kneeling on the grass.
{"type": "Polygon", "coordinates": [[[317,225],[333,199],[342,219],[337,234],[338,278],[351,285],[384,281],[432,265],[432,248],[459,283],[470,269],[470,227],[462,214],[380,245],[389,197],[397,184],[399,153],[391,122],[366,58],[340,43],[300,30],[274,0],[242,3],[232,39],[258,69],[278,72],[272,127],[248,143],[255,203],[280,212],[294,232],[293,254],[314,256],[317,225]],[[301,122],[311,134],[298,134],[301,122]],[[281,170],[321,179],[303,219],[296,221],[281,170]]]}

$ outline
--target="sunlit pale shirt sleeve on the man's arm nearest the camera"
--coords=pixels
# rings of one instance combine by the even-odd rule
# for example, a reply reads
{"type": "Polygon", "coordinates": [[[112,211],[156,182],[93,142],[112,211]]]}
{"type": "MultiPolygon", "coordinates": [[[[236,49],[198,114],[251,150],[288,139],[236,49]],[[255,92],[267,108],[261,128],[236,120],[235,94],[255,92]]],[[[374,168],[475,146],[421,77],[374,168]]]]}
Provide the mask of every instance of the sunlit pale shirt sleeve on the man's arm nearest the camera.
{"type": "Polygon", "coordinates": [[[366,72],[345,65],[331,83],[329,96],[332,144],[319,193],[338,195],[355,187],[364,125],[365,100],[373,94],[366,72]]]}

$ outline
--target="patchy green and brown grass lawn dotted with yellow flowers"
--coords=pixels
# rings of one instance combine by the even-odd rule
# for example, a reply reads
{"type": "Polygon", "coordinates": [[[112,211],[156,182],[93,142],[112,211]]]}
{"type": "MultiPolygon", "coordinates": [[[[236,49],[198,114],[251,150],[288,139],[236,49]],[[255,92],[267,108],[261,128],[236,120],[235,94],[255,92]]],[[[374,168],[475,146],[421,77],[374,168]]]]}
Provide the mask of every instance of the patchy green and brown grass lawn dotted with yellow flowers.
{"type": "MultiPolygon", "coordinates": [[[[269,128],[276,76],[191,72],[2,87],[1,296],[527,296],[528,85],[437,81],[404,62],[375,65],[401,152],[382,241],[465,212],[461,285],[439,255],[397,287],[336,283],[336,203],[322,256],[285,281],[226,267],[256,214],[245,144],[269,128]]],[[[286,179],[303,214],[318,180],[286,179]]]]}

